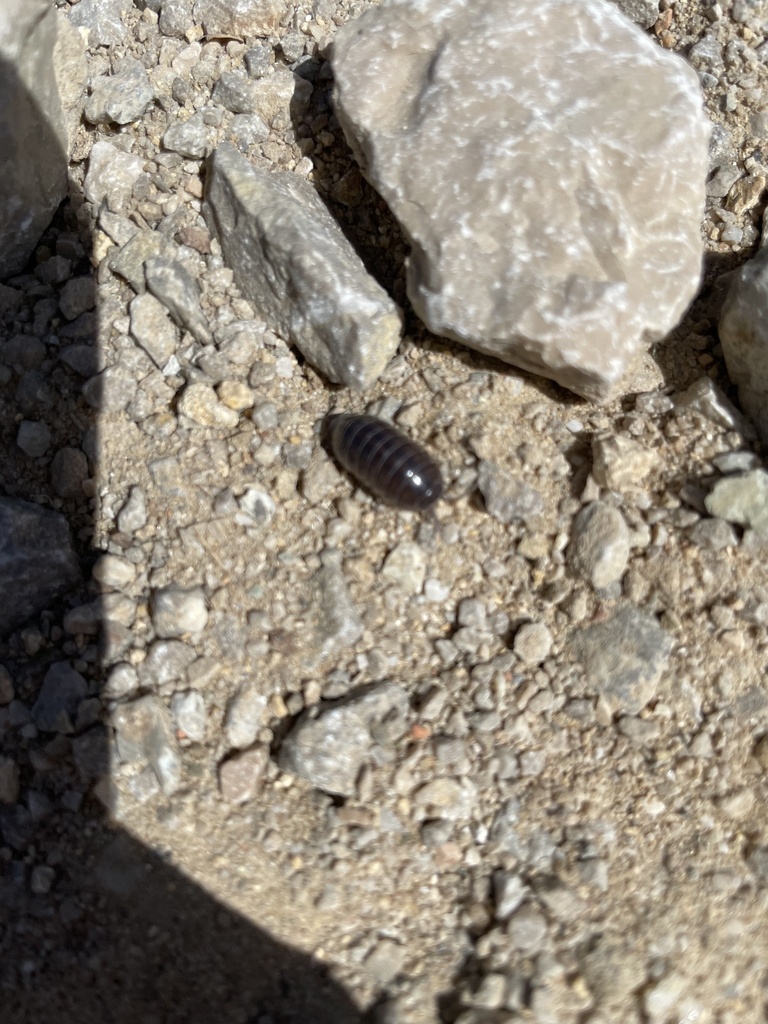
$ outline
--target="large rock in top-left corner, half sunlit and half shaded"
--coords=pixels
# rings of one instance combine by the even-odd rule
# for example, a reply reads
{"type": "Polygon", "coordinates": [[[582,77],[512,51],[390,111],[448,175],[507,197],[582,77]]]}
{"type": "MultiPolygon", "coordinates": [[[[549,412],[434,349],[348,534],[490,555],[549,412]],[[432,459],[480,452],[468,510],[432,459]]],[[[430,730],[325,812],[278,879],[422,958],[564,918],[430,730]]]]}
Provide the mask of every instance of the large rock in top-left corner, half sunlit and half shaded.
{"type": "Polygon", "coordinates": [[[0,2],[0,276],[22,269],[67,193],[85,58],[47,0],[0,2]]]}

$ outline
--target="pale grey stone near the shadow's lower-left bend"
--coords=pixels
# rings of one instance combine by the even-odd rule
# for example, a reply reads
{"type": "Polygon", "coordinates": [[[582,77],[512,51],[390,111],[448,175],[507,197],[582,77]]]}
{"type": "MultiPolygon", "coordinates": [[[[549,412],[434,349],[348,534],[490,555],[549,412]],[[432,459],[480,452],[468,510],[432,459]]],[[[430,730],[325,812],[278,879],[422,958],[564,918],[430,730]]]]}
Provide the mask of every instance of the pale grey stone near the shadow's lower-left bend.
{"type": "Polygon", "coordinates": [[[146,762],[168,797],[181,784],[181,758],[171,714],[154,696],[121,705],[113,716],[121,761],[146,762]]]}

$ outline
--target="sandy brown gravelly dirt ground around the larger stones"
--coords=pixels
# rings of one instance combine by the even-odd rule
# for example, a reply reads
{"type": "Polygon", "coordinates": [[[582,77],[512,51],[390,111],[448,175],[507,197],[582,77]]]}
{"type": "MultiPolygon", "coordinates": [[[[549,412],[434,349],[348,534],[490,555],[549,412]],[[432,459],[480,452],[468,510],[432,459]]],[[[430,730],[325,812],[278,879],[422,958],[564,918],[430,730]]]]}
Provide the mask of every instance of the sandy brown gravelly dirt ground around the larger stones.
{"type": "MultiPolygon", "coordinates": [[[[194,183],[202,162],[156,159],[171,118],[160,102],[119,131],[84,124],[70,199],[30,272],[8,283],[24,304],[6,312],[3,330],[35,334],[36,303],[65,284],[40,291],[35,267],[61,243],[79,245],[72,275],[94,275],[97,324],[70,342],[91,346],[98,369],[124,368],[131,399],[117,410],[109,396],[96,409],[84,401],[82,375],[57,357],[63,325],[49,316],[36,334],[46,346],[40,364],[0,367],[0,483],[62,510],[89,567],[109,553],[131,569],[102,600],[110,625],[100,640],[92,614],[73,615],[98,598],[94,581],[0,647],[11,687],[0,741],[18,776],[0,805],[0,1021],[768,1020],[768,542],[736,528],[720,546],[698,529],[702,496],[719,476],[713,460],[752,453],[759,464],[762,453],[738,422],[678,401],[702,377],[735,398],[718,342],[717,283],[754,255],[762,228],[768,127],[756,115],[768,103],[768,8],[663,0],[649,30],[702,75],[713,171],[733,164],[750,188],[737,180],[708,199],[698,298],[626,394],[596,407],[419,325],[404,297],[407,245],[356,176],[323,58],[335,28],[371,4],[286,6],[262,42],[285,61],[281,40],[293,53],[298,37],[301,59],[314,57],[310,108],[251,156],[295,169],[310,150],[300,141],[323,135],[311,178],[403,304],[404,340],[361,398],[275,339],[230,367],[265,425],[250,409],[228,430],[180,415],[181,389],[207,371],[188,336],[175,373],[136,356],[134,291],[111,269],[112,242],[82,188],[93,139],[129,140],[148,170],[127,218],[164,230],[176,217],[176,239],[204,226],[194,183]],[[701,56],[708,40],[722,59],[701,56]],[[167,203],[181,185],[179,215],[167,203]],[[339,199],[349,199],[351,205],[339,199]],[[25,404],[31,372],[46,375],[48,391],[25,404]],[[324,418],[376,402],[443,468],[446,495],[429,515],[388,508],[334,469],[324,418]],[[48,424],[47,456],[31,459],[15,444],[22,419],[48,424]],[[644,476],[600,486],[595,438],[644,445],[644,476]],[[88,457],[84,498],[51,487],[50,455],[63,446],[88,457]],[[511,522],[489,514],[480,462],[523,480],[540,505],[511,522]],[[118,518],[132,488],[146,514],[128,531],[118,518]],[[249,488],[273,510],[245,514],[249,488]],[[621,581],[596,591],[567,552],[574,516],[598,498],[622,513],[631,551],[621,581]],[[153,653],[153,595],[168,586],[202,587],[208,620],[175,654],[153,653]],[[337,587],[359,622],[351,644],[324,615],[337,587]],[[655,620],[663,638],[649,641],[653,695],[632,710],[611,702],[583,653],[597,636],[589,631],[626,608],[655,620]],[[529,624],[539,629],[526,646],[518,638],[529,624]],[[95,702],[72,731],[47,733],[30,710],[61,660],[95,702]],[[122,693],[116,666],[135,670],[124,673],[135,680],[122,693]],[[353,796],[280,769],[281,745],[307,709],[380,683],[402,687],[407,721],[373,743],[353,796]],[[221,766],[237,745],[232,702],[249,686],[263,698],[250,743],[269,757],[238,802],[222,793],[221,766]],[[146,694],[178,708],[175,696],[190,691],[202,695],[202,735],[189,738],[174,720],[181,779],[163,793],[142,774],[145,761],[121,757],[115,716],[146,694]],[[84,768],[86,734],[87,757],[109,755],[109,781],[84,768]]],[[[122,43],[89,50],[92,75],[126,55],[147,67],[161,59],[153,5],[123,22],[122,43]]],[[[243,66],[247,47],[237,40],[206,47],[212,74],[243,66]]],[[[195,67],[179,77],[210,93],[210,76],[195,67]]],[[[210,322],[248,319],[215,240],[210,252],[190,252],[210,322]]],[[[644,656],[626,654],[613,683],[644,656]]],[[[343,733],[333,742],[342,749],[343,733]]]]}

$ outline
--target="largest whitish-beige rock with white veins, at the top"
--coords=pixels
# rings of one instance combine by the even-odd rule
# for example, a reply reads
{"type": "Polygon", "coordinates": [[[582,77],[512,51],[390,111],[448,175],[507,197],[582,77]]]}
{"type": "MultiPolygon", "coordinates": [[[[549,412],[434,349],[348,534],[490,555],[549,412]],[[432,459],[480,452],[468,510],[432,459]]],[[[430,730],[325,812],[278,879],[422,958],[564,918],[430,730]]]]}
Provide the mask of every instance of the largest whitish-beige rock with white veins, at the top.
{"type": "Polygon", "coordinates": [[[698,287],[692,70],[604,0],[388,0],[332,61],[339,121],[410,237],[419,316],[609,397],[698,287]]]}

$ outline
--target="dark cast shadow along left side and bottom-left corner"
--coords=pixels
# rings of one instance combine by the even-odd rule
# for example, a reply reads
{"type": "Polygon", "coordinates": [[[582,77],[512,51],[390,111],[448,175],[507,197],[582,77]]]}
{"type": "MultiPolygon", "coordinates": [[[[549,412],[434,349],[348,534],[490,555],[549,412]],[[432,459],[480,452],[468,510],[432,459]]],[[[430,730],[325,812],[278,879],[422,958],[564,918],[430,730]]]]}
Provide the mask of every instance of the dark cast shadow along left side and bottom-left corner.
{"type": "MultiPolygon", "coordinates": [[[[0,96],[18,99],[20,89],[0,65],[0,96]]],[[[29,95],[22,105],[39,146],[46,121],[29,95]]],[[[66,167],[55,140],[48,142],[51,159],[66,167]]],[[[10,160],[23,158],[6,147],[0,166],[5,161],[7,171],[10,160]]],[[[0,496],[66,517],[84,581],[68,594],[43,596],[38,614],[0,638],[0,1020],[355,1024],[359,1012],[322,964],[224,908],[113,826],[92,792],[109,764],[109,731],[93,700],[103,667],[91,631],[62,628],[69,608],[97,596],[88,580],[99,554],[98,434],[109,428],[109,418],[98,421],[97,383],[90,401],[82,389],[98,380],[99,332],[110,325],[99,325],[97,309],[67,318],[60,305],[67,280],[93,273],[85,218],[77,216],[82,202],[71,189],[28,266],[0,288],[0,496]],[[57,272],[65,264],[51,263],[55,257],[69,260],[67,272],[57,272]],[[49,430],[44,454],[18,446],[22,421],[49,430]],[[87,477],[74,493],[53,469],[62,449],[88,458],[87,477]],[[36,724],[35,701],[46,673],[61,662],[86,679],[88,696],[71,723],[47,732],[39,716],[36,724]]],[[[111,487],[120,493],[121,481],[111,487]]],[[[18,585],[8,570],[8,544],[0,538],[6,608],[18,585]]]]}

